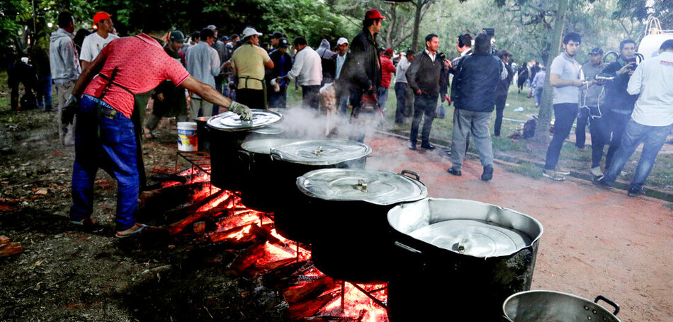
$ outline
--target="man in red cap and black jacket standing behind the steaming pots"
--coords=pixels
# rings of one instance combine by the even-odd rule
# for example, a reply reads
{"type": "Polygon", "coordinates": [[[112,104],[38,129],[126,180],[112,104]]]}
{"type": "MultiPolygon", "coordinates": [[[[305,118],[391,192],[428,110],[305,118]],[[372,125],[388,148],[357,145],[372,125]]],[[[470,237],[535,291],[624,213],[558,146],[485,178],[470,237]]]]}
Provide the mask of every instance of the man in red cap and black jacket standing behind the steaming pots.
{"type": "MultiPolygon", "coordinates": [[[[347,86],[350,91],[353,105],[351,114],[354,117],[361,113],[362,96],[375,96],[381,84],[381,61],[378,57],[376,34],[381,29],[383,19],[385,17],[378,10],[371,9],[365,13],[362,30],[353,38],[351,54],[346,58],[344,71],[341,71],[346,77],[339,78],[339,86],[347,86]]],[[[362,130],[362,127],[358,129],[362,130]]],[[[350,139],[363,142],[365,132],[354,132],[350,139]]]]}

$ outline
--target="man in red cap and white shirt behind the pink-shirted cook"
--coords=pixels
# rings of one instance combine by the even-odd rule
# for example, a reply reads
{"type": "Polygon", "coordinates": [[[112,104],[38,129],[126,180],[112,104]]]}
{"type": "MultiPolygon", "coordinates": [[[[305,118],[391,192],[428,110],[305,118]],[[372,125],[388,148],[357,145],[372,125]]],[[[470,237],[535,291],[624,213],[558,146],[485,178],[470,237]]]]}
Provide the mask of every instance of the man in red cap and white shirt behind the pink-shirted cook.
{"type": "Polygon", "coordinates": [[[118,35],[112,33],[114,24],[110,13],[98,11],[94,15],[94,28],[96,28],[96,33],[86,36],[84,42],[81,43],[79,60],[82,70],[86,69],[98,57],[98,53],[103,50],[103,47],[119,38],[118,35]]]}

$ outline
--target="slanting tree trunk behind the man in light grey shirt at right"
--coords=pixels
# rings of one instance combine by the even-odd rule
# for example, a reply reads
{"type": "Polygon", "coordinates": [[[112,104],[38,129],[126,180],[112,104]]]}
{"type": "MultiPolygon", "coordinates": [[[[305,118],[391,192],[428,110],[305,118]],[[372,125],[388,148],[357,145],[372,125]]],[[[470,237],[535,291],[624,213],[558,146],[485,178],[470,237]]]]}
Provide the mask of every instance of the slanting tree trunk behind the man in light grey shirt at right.
{"type": "MultiPolygon", "coordinates": [[[[567,0],[558,0],[558,11],[556,12],[556,21],[554,23],[554,32],[552,36],[552,41],[557,42],[558,46],[552,45],[552,47],[557,48],[556,52],[550,52],[550,59],[552,53],[555,53],[553,56],[560,52],[562,35],[563,35],[563,26],[565,24],[565,13],[568,8],[567,0]]],[[[552,113],[552,87],[549,84],[549,76],[551,75],[550,71],[551,64],[547,65],[547,73],[545,75],[545,87],[542,93],[542,102],[540,103],[540,113],[538,114],[538,121],[535,127],[535,137],[533,138],[536,142],[541,143],[541,146],[546,146],[549,142],[549,123],[551,121],[552,113]]]]}

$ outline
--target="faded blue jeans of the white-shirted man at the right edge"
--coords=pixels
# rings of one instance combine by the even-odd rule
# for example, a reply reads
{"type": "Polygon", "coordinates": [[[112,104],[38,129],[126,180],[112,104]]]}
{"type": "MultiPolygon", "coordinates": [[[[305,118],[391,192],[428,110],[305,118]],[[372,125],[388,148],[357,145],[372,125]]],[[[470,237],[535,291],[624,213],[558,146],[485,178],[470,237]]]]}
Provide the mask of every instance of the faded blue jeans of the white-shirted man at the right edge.
{"type": "Polygon", "coordinates": [[[603,182],[607,185],[613,185],[619,173],[628,162],[635,148],[640,145],[641,142],[644,142],[643,152],[640,154],[640,161],[638,161],[638,167],[635,168],[635,175],[631,180],[630,189],[640,190],[647,180],[647,176],[650,175],[652,171],[652,166],[655,164],[655,159],[659,150],[664,146],[666,142],[666,137],[669,132],[673,129],[672,125],[662,126],[662,127],[652,127],[647,125],[641,125],[635,122],[633,119],[628,120],[626,123],[626,131],[621,139],[621,144],[619,149],[614,154],[610,168],[606,171],[603,178],[603,182]]]}

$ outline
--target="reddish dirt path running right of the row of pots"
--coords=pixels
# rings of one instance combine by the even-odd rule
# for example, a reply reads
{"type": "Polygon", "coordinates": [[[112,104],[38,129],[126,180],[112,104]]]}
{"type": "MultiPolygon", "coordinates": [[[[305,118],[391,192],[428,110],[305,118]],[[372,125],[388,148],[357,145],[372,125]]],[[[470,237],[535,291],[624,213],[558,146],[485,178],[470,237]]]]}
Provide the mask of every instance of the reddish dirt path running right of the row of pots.
{"type": "Polygon", "coordinates": [[[535,180],[499,165],[494,179],[483,182],[478,159],[465,161],[463,176],[456,177],[446,173],[451,162],[441,149],[411,151],[407,142],[380,135],[366,143],[373,149],[368,168],[416,171],[431,197],[478,200],[538,219],[544,234],[532,289],[590,300],[604,295],[621,305],[621,321],[673,321],[669,202],[583,180],[535,180]]]}

